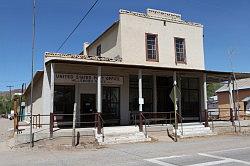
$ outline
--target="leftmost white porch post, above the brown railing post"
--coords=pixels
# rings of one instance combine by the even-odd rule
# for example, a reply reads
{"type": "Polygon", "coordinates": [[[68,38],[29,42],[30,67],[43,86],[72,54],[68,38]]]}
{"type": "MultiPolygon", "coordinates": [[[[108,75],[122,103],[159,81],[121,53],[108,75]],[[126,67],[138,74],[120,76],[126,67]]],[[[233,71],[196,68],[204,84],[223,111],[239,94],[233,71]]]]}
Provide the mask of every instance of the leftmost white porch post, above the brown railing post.
{"type": "Polygon", "coordinates": [[[54,89],[55,89],[55,65],[50,65],[50,113],[53,113],[54,109],[54,89]]]}

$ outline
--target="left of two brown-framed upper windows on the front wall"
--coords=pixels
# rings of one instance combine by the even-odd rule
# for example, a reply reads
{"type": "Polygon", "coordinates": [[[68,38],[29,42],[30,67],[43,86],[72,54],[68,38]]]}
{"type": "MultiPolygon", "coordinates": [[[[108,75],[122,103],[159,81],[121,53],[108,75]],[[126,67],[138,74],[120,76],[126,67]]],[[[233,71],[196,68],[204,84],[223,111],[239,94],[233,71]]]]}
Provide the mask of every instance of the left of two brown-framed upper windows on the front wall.
{"type": "Polygon", "coordinates": [[[146,33],[147,61],[158,61],[158,39],[156,34],[146,33]]]}

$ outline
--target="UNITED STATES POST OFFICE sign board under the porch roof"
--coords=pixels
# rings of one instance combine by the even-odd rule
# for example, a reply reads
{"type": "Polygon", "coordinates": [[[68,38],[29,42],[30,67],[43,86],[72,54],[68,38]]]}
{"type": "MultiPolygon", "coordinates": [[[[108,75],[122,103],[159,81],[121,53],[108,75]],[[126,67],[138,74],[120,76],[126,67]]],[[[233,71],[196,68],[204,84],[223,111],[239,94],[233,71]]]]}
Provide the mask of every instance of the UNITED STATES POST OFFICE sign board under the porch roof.
{"type": "MultiPolygon", "coordinates": [[[[122,85],[123,77],[120,76],[102,76],[102,84],[122,85]]],[[[96,75],[83,74],[55,74],[55,83],[97,83],[96,75]]]]}

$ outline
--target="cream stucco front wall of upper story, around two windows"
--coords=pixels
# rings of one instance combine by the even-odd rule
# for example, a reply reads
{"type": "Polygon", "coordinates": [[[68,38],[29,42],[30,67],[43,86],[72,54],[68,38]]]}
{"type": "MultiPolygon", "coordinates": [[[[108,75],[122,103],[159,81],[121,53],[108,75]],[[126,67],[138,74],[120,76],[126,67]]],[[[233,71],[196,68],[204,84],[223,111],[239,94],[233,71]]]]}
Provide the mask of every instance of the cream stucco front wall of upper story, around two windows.
{"type": "Polygon", "coordinates": [[[124,63],[150,66],[204,69],[203,28],[120,14],[124,63]],[[146,61],[145,33],[158,35],[159,62],[146,61]],[[187,64],[176,64],[174,37],[184,38],[187,64]]]}

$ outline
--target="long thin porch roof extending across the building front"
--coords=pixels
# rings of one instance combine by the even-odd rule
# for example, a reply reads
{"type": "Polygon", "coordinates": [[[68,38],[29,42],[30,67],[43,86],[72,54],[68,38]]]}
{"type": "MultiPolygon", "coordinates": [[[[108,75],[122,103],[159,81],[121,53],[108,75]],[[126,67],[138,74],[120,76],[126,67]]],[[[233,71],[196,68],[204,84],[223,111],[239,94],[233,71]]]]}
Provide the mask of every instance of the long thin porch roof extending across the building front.
{"type": "MultiPolygon", "coordinates": [[[[200,70],[200,69],[190,69],[190,68],[186,69],[186,68],[170,68],[170,67],[150,66],[150,65],[126,64],[120,61],[98,61],[98,60],[58,58],[58,57],[46,58],[45,65],[50,63],[84,64],[93,66],[167,70],[167,71],[188,72],[188,73],[206,73],[207,82],[224,82],[227,81],[230,77],[233,77],[233,72],[226,72],[226,71],[212,71],[212,70],[200,70]]],[[[234,74],[237,79],[250,78],[250,73],[235,72],[234,74]]]]}

